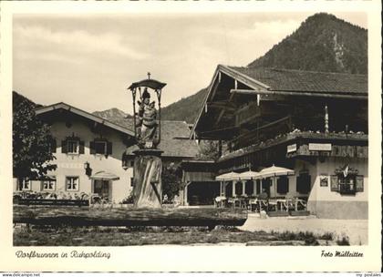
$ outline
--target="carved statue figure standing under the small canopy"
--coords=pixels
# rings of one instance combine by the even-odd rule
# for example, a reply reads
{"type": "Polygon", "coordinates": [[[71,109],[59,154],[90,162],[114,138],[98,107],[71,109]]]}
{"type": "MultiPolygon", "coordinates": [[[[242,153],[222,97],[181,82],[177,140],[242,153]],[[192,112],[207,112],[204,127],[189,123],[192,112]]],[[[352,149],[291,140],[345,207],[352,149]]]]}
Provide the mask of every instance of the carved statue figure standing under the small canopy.
{"type": "Polygon", "coordinates": [[[150,94],[148,88],[145,87],[144,92],[140,100],[139,112],[138,112],[138,124],[137,124],[137,134],[139,139],[139,147],[143,148],[153,148],[157,145],[155,134],[157,130],[157,109],[155,108],[155,102],[150,103],[150,94]],[[149,147],[148,144],[149,143],[149,147]]]}

